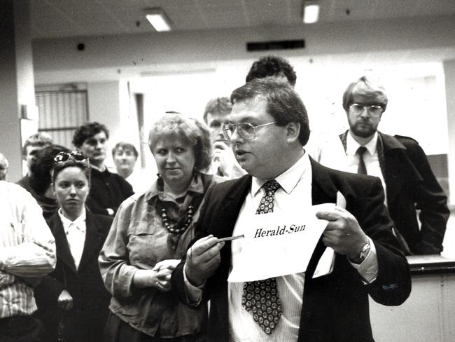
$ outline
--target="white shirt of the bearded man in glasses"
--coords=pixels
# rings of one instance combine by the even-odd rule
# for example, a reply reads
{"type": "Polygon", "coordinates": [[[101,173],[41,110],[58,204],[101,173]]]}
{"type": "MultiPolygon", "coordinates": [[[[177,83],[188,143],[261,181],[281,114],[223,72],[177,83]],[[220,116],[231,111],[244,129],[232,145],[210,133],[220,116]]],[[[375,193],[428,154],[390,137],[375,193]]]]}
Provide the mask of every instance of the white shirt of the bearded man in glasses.
{"type": "MultiPolygon", "coordinates": [[[[386,182],[382,175],[381,165],[379,164],[379,153],[377,153],[377,132],[374,133],[373,138],[365,145],[367,151],[363,153],[363,161],[367,167],[367,175],[376,176],[381,179],[384,194],[386,195],[386,182]]],[[[347,158],[347,171],[357,173],[359,157],[356,154],[357,149],[362,146],[356,139],[354,139],[349,131],[346,136],[346,158],[347,158]]],[[[384,204],[387,205],[387,196],[384,199],[384,204]]]]}

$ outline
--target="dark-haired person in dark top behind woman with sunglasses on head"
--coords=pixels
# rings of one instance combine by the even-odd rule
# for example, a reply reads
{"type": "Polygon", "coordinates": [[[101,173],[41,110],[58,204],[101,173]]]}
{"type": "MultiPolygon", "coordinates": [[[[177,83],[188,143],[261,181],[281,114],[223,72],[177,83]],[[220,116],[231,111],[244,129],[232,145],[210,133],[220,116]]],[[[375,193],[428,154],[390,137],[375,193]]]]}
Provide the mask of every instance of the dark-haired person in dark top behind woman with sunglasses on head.
{"type": "Polygon", "coordinates": [[[92,122],[79,126],[73,135],[73,144],[90,160],[91,186],[87,207],[94,214],[113,216],[118,206],[134,191],[130,183],[104,165],[109,130],[102,123],[92,122]]]}

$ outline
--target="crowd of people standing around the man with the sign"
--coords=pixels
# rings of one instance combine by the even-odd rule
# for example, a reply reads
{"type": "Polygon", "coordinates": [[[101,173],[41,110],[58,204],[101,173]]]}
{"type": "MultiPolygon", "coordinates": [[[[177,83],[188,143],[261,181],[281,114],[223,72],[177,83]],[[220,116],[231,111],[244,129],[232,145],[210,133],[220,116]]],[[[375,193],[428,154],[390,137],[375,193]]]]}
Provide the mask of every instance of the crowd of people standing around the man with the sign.
{"type": "Polygon", "coordinates": [[[296,81],[288,61],[261,57],[204,122],[164,114],[148,135],[158,178],[128,142],[109,170],[97,122],[73,148],[29,137],[18,184],[0,153],[0,341],[373,341],[368,296],[407,299],[405,256],[442,252],[447,196],[416,140],[377,129],[383,86],[349,84],[349,130],[319,136],[296,81]],[[316,210],[327,225],[304,272],[228,281],[248,244],[230,238],[255,214],[323,203],[334,205],[316,210]],[[332,268],[316,276],[328,250],[332,268]]]}

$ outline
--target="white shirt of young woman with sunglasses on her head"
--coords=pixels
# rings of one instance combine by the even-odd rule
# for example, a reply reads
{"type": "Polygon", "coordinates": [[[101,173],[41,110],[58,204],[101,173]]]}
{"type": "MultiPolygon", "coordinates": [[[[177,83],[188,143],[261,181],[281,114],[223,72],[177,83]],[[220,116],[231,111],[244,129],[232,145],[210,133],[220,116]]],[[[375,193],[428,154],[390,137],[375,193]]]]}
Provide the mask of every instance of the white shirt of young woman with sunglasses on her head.
{"type": "Polygon", "coordinates": [[[62,208],[59,209],[58,213],[60,219],[62,220],[66,240],[68,241],[69,250],[73,256],[74,264],[76,265],[77,270],[79,268],[80,258],[82,257],[82,253],[84,251],[85,231],[87,230],[87,226],[85,224],[85,208],[83,208],[80,216],[74,221],[64,217],[62,214],[62,208]]]}

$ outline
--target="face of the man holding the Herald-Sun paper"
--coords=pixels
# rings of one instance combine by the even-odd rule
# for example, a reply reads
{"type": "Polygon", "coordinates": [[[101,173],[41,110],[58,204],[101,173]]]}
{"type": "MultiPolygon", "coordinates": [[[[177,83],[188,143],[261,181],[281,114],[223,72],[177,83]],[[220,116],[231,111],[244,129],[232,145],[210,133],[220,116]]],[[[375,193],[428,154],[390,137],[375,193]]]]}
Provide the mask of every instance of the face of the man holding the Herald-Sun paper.
{"type": "MultiPolygon", "coordinates": [[[[275,121],[267,112],[267,100],[255,97],[239,101],[232,107],[230,123],[262,125],[275,121]]],[[[231,148],[239,165],[250,175],[271,179],[281,173],[281,158],[286,155],[286,126],[267,125],[255,128],[255,138],[245,140],[237,130],[231,137],[231,148]]]]}

